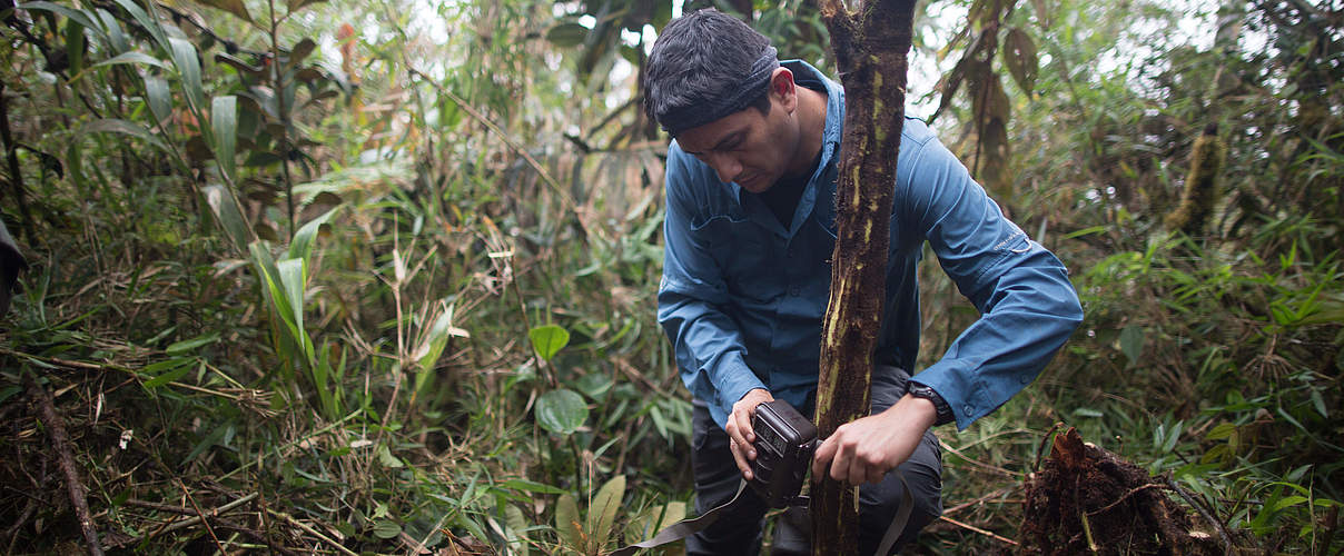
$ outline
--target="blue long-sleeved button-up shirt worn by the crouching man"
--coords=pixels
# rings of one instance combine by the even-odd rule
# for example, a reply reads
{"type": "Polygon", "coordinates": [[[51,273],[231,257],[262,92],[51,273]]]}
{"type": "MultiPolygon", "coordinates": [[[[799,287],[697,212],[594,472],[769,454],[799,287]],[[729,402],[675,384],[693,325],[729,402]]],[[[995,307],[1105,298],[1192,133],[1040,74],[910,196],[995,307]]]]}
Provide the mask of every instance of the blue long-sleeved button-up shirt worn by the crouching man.
{"type": "MultiPolygon", "coordinates": [[[[788,228],[757,195],[719,181],[675,141],[668,148],[659,322],[687,388],[720,427],[753,388],[794,407],[817,388],[844,89],[805,62],[784,64],[800,86],[827,94],[821,161],[788,228]]],[[[915,267],[927,240],[981,317],[913,380],[938,392],[965,428],[1036,377],[1082,309],[1059,259],[1003,215],[929,126],[906,118],[903,128],[875,361],[914,368],[915,267]]]]}

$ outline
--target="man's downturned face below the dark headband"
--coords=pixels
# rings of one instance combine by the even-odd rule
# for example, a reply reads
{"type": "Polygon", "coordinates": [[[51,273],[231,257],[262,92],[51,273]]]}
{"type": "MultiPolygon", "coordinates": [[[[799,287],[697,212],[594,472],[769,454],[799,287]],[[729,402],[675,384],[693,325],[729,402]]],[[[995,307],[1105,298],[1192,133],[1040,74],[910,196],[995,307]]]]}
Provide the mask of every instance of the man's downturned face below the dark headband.
{"type": "Polygon", "coordinates": [[[737,183],[753,193],[763,192],[784,176],[798,145],[798,126],[793,118],[796,103],[780,97],[774,91],[769,94],[769,114],[749,106],[681,132],[677,144],[687,154],[714,168],[719,181],[737,183]]]}

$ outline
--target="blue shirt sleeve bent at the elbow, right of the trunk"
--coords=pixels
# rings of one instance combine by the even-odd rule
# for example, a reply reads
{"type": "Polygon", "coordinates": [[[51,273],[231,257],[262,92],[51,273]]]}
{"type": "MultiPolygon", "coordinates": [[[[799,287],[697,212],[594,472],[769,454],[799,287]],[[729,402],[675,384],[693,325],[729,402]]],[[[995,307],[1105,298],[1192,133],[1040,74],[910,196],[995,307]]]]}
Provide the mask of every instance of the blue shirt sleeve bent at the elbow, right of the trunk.
{"type": "Polygon", "coordinates": [[[896,199],[906,226],[919,228],[980,310],[913,379],[938,392],[965,430],[1035,380],[1082,322],[1082,306],[1064,265],[1008,220],[937,138],[919,148],[905,188],[896,199]]]}

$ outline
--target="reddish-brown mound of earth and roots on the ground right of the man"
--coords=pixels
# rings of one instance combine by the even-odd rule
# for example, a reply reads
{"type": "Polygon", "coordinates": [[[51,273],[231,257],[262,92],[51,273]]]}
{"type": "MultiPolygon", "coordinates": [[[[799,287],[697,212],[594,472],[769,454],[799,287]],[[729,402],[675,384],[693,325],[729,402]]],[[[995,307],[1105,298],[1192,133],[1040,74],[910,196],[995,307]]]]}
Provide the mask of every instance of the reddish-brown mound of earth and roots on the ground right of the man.
{"type": "Polygon", "coordinates": [[[1027,479],[1023,555],[1220,555],[1148,471],[1091,443],[1075,428],[1027,479]]]}

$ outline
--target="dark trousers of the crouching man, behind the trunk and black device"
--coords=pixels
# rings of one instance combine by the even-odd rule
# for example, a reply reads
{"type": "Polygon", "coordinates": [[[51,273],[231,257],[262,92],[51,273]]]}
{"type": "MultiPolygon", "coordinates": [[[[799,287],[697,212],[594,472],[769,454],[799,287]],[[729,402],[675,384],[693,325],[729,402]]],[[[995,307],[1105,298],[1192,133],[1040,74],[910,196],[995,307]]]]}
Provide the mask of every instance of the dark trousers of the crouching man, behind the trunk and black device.
{"type": "MultiPolygon", "coordinates": [[[[894,367],[878,367],[872,377],[871,412],[878,414],[891,407],[906,392],[905,371],[894,367]]],[[[810,403],[809,403],[810,406],[810,403]]],[[[813,408],[798,408],[812,416],[813,408]]],[[[738,471],[728,450],[728,435],[710,416],[708,407],[696,400],[694,410],[694,436],[691,462],[695,467],[696,512],[703,514],[727,502],[738,490],[742,473],[738,471]]],[[[942,451],[933,431],[925,432],[923,442],[909,461],[900,465],[900,473],[910,485],[915,508],[910,521],[900,533],[896,547],[911,541],[919,529],[942,514],[942,451]]],[[[859,551],[872,555],[882,543],[900,508],[900,478],[888,473],[882,482],[864,483],[859,488],[859,551]]],[[[714,525],[685,540],[688,556],[754,556],[761,552],[761,528],[769,508],[751,490],[742,493],[742,500],[728,513],[719,517],[714,525]]],[[[785,510],[775,522],[771,555],[810,553],[812,524],[798,508],[785,510]]]]}

